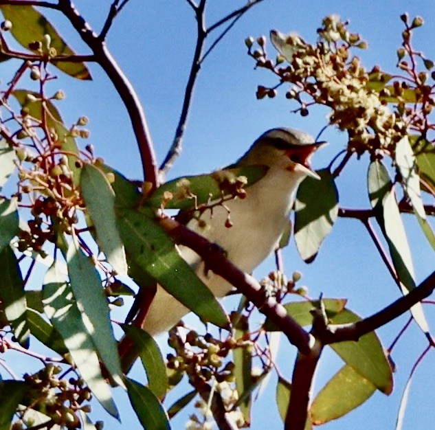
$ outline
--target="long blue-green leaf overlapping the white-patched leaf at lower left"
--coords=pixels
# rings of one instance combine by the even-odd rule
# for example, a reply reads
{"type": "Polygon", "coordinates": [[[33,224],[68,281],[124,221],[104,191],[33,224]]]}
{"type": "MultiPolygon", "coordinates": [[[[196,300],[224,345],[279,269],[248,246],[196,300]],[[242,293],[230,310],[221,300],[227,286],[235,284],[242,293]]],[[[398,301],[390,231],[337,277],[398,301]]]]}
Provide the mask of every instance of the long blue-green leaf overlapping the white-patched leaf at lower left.
{"type": "Polygon", "coordinates": [[[69,245],[67,262],[71,290],[87,332],[113,380],[124,387],[118,346],[109,317],[109,304],[100,276],[91,260],[75,242],[69,245]]]}

